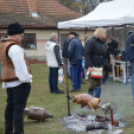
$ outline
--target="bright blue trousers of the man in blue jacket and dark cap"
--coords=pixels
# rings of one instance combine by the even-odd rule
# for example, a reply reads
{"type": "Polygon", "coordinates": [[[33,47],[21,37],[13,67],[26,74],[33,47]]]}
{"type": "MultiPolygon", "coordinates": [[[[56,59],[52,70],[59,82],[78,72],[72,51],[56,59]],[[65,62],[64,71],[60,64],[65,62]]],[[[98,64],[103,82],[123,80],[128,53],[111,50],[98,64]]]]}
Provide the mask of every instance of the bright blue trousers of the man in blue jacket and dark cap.
{"type": "Polygon", "coordinates": [[[72,65],[70,62],[70,76],[73,84],[73,89],[81,89],[81,70],[82,61],[77,61],[77,65],[72,65]]]}

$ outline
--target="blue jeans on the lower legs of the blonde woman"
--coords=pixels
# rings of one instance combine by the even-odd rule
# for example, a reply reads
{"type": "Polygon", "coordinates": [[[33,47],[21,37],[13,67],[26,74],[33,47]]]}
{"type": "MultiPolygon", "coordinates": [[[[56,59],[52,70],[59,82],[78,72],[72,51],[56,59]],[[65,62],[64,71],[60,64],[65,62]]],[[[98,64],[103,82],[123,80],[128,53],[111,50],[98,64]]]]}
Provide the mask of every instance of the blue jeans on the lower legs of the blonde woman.
{"type": "Polygon", "coordinates": [[[101,95],[101,86],[96,87],[95,89],[90,89],[88,92],[90,95],[100,98],[101,95]]]}

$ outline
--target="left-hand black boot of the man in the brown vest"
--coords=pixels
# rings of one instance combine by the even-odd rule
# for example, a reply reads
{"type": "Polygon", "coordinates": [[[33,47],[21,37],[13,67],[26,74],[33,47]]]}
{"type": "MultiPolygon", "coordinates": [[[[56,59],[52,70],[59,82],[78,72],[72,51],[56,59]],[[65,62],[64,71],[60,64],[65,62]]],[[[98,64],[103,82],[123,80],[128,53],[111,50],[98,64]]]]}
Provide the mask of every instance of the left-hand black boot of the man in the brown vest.
{"type": "Polygon", "coordinates": [[[13,121],[7,120],[5,122],[5,134],[13,134],[13,121]]]}

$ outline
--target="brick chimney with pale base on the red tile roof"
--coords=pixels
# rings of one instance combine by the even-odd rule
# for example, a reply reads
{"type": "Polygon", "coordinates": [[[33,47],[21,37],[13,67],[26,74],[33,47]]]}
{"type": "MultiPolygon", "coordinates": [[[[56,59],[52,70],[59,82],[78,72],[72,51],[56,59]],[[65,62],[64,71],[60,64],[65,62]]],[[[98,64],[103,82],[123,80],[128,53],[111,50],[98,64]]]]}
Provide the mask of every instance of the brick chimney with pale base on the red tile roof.
{"type": "Polygon", "coordinates": [[[37,0],[28,0],[29,14],[32,17],[38,17],[37,13],[37,0]]]}

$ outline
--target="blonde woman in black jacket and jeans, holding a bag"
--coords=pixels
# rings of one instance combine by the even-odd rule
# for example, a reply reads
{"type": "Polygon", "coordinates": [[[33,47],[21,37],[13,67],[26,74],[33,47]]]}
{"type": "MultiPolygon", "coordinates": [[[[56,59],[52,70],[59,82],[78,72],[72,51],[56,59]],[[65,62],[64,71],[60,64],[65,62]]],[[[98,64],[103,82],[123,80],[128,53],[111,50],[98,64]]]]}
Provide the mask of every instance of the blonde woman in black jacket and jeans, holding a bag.
{"type": "MultiPolygon", "coordinates": [[[[93,71],[93,67],[100,68],[108,64],[107,47],[105,43],[106,36],[106,30],[103,28],[98,28],[94,33],[94,37],[90,39],[85,45],[86,69],[89,72],[93,71]]],[[[89,81],[89,94],[100,98],[101,79],[90,78],[89,81]]]]}

